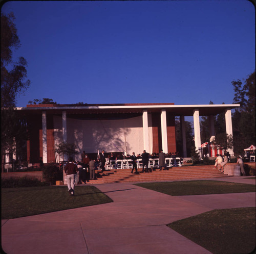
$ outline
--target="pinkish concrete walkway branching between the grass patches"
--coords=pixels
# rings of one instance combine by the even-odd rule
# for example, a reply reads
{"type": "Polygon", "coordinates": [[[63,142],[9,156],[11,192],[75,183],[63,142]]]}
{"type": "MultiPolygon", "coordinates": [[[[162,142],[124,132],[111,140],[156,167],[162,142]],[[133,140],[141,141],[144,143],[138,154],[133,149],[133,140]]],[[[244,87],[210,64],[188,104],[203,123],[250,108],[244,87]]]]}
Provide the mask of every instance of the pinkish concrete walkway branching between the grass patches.
{"type": "MultiPolygon", "coordinates": [[[[207,179],[254,184],[247,177],[207,179]]],[[[169,196],[131,183],[96,185],[114,202],[2,220],[8,254],[210,253],[166,224],[213,209],[255,207],[255,193],[169,196]]]]}

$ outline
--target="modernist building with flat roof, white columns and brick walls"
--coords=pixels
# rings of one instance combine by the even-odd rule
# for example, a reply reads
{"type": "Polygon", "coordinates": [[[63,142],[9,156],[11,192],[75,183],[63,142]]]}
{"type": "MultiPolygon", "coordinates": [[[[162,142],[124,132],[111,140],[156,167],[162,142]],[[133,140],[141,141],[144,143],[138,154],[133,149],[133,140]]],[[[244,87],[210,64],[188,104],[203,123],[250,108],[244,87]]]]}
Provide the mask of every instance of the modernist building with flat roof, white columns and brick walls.
{"type": "MultiPolygon", "coordinates": [[[[239,105],[174,105],[161,104],[86,104],[27,105],[18,108],[27,116],[29,140],[28,163],[56,162],[58,143],[74,143],[80,159],[82,151],[106,153],[125,151],[127,154],[176,151],[175,117],[181,120],[183,150],[186,157],[184,117],[193,116],[195,146],[201,150],[200,116],[210,116],[210,134],[215,136],[213,116],[225,113],[226,133],[232,135],[231,109],[239,105]]],[[[230,150],[230,154],[233,152],[230,150]]]]}

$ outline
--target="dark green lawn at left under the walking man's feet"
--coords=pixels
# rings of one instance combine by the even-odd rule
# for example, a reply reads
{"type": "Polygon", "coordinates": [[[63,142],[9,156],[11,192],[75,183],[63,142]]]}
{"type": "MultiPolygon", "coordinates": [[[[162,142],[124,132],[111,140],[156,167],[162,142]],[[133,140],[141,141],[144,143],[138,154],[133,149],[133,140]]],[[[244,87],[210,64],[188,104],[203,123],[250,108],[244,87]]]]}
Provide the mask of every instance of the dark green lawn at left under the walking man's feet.
{"type": "Polygon", "coordinates": [[[94,186],[76,186],[70,196],[67,186],[2,188],[2,219],[94,206],[113,200],[94,186]]]}

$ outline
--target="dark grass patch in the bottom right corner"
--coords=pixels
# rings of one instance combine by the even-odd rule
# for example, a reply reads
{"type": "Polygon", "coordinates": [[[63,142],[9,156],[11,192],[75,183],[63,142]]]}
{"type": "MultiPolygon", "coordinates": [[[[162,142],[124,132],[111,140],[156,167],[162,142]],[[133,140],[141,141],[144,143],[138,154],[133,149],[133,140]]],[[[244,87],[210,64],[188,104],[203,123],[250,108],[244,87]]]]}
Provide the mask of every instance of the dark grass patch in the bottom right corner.
{"type": "Polygon", "coordinates": [[[253,253],[255,208],[214,210],[168,224],[212,253],[253,253]]]}

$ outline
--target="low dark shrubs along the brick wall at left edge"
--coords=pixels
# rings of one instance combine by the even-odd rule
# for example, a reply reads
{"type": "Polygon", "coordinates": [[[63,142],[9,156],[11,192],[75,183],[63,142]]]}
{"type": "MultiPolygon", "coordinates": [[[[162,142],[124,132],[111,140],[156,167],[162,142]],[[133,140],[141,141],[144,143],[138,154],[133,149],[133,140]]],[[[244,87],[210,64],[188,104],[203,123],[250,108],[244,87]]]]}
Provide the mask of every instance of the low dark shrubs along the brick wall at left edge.
{"type": "Polygon", "coordinates": [[[2,188],[17,188],[17,187],[36,187],[36,186],[46,186],[48,183],[41,182],[38,179],[24,177],[10,177],[8,179],[2,179],[2,188]]]}

